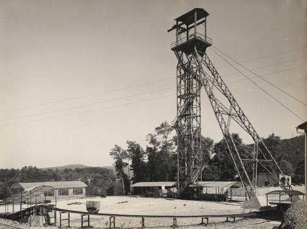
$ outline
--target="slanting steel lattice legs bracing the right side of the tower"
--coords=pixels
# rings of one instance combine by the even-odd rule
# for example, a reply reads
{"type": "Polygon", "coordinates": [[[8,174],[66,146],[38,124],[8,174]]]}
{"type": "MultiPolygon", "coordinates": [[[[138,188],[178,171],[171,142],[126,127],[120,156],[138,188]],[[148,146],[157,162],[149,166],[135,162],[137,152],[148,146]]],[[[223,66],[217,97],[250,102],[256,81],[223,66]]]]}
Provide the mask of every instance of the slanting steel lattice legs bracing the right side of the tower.
{"type": "Polygon", "coordinates": [[[240,179],[242,180],[242,183],[244,185],[244,188],[246,189],[248,196],[251,198],[252,196],[255,195],[255,190],[253,187],[257,186],[258,164],[261,166],[262,169],[266,170],[266,172],[268,172],[268,174],[274,180],[278,181],[278,184],[282,189],[284,190],[292,189],[288,180],[286,179],[280,167],[276,163],[274,157],[272,156],[272,153],[268,150],[264,141],[259,137],[258,133],[252,126],[251,122],[248,120],[243,110],[238,105],[237,101],[231,94],[229,88],[226,86],[225,82],[223,81],[221,76],[216,71],[216,68],[212,64],[208,55],[206,53],[202,53],[202,54],[203,54],[203,57],[201,57],[199,55],[199,52],[196,51],[195,49],[195,55],[193,56],[195,58],[195,62],[197,62],[196,66],[198,69],[198,73],[200,74],[200,77],[203,80],[203,85],[206,89],[206,92],[209,97],[211,106],[214,110],[216,119],[223,132],[224,139],[227,143],[227,146],[232,156],[234,165],[237,169],[240,179]],[[208,68],[212,76],[210,76],[203,70],[203,65],[208,68]],[[227,98],[228,102],[230,103],[230,109],[228,109],[226,106],[224,106],[220,101],[218,101],[215,98],[213,94],[213,87],[217,88],[222,93],[222,95],[224,95],[227,98]],[[227,124],[223,118],[223,115],[228,116],[227,124]],[[245,161],[253,162],[252,181],[250,180],[250,177],[247,174],[244,163],[242,159],[240,158],[240,155],[236,149],[234,140],[232,139],[231,133],[229,132],[231,119],[233,119],[237,124],[239,124],[239,126],[241,126],[246,132],[248,132],[254,141],[254,153],[251,156],[251,158],[245,159],[245,161]],[[261,148],[259,148],[259,145],[262,146],[262,150],[261,148]],[[232,153],[233,150],[235,150],[236,154],[232,153]],[[264,158],[264,159],[258,159],[258,155],[261,155],[261,158],[264,158]],[[276,170],[274,168],[276,168],[276,170]],[[285,178],[284,179],[286,181],[285,184],[281,182],[279,178],[279,174],[281,174],[281,176],[285,178]]]}

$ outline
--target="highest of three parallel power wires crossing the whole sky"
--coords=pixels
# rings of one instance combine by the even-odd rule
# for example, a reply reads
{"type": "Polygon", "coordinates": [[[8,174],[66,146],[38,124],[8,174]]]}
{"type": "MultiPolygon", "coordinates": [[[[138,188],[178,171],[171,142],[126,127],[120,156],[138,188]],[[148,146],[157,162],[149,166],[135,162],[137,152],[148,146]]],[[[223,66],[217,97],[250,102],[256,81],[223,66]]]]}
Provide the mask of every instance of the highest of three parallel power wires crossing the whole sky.
{"type": "MultiPolygon", "coordinates": [[[[254,59],[249,59],[249,60],[246,60],[246,61],[242,61],[240,63],[245,63],[245,62],[249,62],[249,61],[252,61],[252,60],[258,60],[258,59],[262,59],[262,58],[266,58],[266,57],[276,56],[276,55],[279,55],[279,54],[289,53],[289,52],[293,52],[293,51],[301,50],[301,49],[305,49],[305,48],[307,48],[307,47],[301,47],[301,48],[298,48],[298,49],[293,49],[293,50],[289,50],[289,51],[285,51],[285,52],[280,52],[280,53],[275,53],[275,54],[271,54],[271,55],[267,55],[267,56],[257,57],[257,58],[254,58],[254,59]]],[[[222,67],[226,67],[226,66],[230,66],[230,65],[225,65],[225,66],[221,66],[221,67],[217,67],[217,68],[222,68],[222,67]]],[[[90,96],[96,96],[96,95],[100,95],[100,94],[111,93],[113,91],[119,91],[119,90],[123,90],[123,89],[129,89],[129,88],[134,88],[134,87],[138,87],[138,86],[144,86],[144,85],[148,85],[148,84],[152,84],[152,83],[157,83],[157,82],[161,82],[161,81],[166,81],[166,80],[169,80],[169,79],[173,79],[173,77],[166,78],[166,79],[161,79],[161,80],[156,80],[156,81],[152,81],[152,82],[148,82],[148,83],[143,83],[143,84],[137,84],[137,85],[131,85],[131,86],[127,86],[127,87],[121,87],[121,88],[117,88],[117,89],[114,89],[114,90],[101,91],[99,93],[94,93],[94,94],[89,94],[89,95],[84,95],[84,96],[78,96],[78,97],[73,97],[73,98],[68,98],[68,99],[55,100],[55,101],[52,101],[52,102],[40,103],[40,104],[35,104],[35,105],[30,105],[30,106],[17,107],[17,108],[12,108],[12,109],[7,109],[7,110],[0,110],[0,112],[7,112],[7,111],[12,111],[12,110],[19,110],[19,109],[31,108],[31,107],[36,107],[36,106],[43,106],[43,105],[48,105],[48,104],[53,104],[53,103],[58,103],[58,102],[70,101],[70,100],[75,100],[75,99],[80,99],[80,98],[86,98],[86,97],[90,97],[90,96]]]]}

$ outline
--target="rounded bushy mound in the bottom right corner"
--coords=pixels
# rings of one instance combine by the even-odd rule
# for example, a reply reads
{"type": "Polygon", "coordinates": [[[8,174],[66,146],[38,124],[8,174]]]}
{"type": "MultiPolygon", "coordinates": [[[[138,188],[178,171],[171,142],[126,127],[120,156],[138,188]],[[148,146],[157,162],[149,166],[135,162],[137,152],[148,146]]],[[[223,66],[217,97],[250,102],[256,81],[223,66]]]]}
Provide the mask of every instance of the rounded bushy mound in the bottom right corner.
{"type": "Polygon", "coordinates": [[[307,203],[303,200],[294,202],[283,216],[279,229],[306,229],[307,203]]]}

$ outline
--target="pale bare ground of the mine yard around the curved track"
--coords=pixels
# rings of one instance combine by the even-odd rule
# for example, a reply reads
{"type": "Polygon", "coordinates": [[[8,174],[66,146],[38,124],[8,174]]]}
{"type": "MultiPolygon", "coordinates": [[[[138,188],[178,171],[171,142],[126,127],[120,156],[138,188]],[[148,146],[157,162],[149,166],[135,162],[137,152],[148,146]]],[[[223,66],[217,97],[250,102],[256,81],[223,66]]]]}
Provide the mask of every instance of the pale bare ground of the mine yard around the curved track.
{"type": "MultiPolygon", "coordinates": [[[[192,200],[168,200],[165,198],[144,198],[131,196],[108,196],[106,198],[86,198],[76,200],[58,201],[57,208],[86,212],[86,200],[100,201],[99,213],[109,214],[130,214],[130,215],[215,215],[215,214],[238,214],[247,213],[239,202],[209,202],[192,200]],[[81,204],[68,203],[79,202],[81,204]]],[[[1,211],[1,210],[0,210],[1,211]]],[[[62,214],[67,218],[67,213],[62,214]]],[[[81,216],[79,214],[70,214],[70,225],[73,228],[80,228],[81,216]]],[[[116,217],[116,227],[121,228],[140,228],[140,217],[116,217]]],[[[3,221],[3,220],[2,220],[3,221]]],[[[2,222],[0,221],[0,223],[2,222]]],[[[9,222],[13,223],[13,222],[9,222]]],[[[203,227],[200,225],[201,218],[177,218],[177,225],[180,228],[203,227]]],[[[226,218],[209,218],[207,228],[234,228],[237,226],[251,225],[253,228],[271,229],[272,224],[264,222],[264,219],[236,219],[233,222],[226,222],[226,218]]],[[[172,218],[146,218],[145,227],[148,228],[166,228],[173,224],[172,218]]],[[[20,228],[30,228],[29,224],[13,223],[20,228]]],[[[57,213],[57,225],[59,225],[59,213],[57,213]]],[[[90,225],[94,228],[108,228],[108,216],[90,216],[90,225]]],[[[0,228],[5,228],[1,227],[0,228]]],[[[37,227],[31,227],[37,228],[37,227]]]]}

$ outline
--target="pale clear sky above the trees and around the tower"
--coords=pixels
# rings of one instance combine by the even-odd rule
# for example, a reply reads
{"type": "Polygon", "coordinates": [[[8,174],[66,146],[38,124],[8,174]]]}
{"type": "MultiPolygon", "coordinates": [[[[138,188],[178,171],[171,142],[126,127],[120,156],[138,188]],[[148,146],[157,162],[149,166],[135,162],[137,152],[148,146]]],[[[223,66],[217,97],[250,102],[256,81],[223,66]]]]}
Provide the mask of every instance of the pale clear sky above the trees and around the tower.
{"type": "MultiPolygon", "coordinates": [[[[129,140],[145,147],[146,135],[176,116],[177,59],[170,50],[176,35],[167,29],[195,7],[210,14],[207,36],[214,47],[307,103],[306,5],[0,1],[0,168],[110,166],[115,144],[126,148],[129,140]]],[[[212,50],[207,53],[260,136],[298,135],[305,105],[252,79],[302,121],[234,68],[223,67],[228,64],[212,50]]],[[[218,142],[223,135],[205,91],[201,103],[202,134],[218,142]]],[[[251,143],[239,128],[233,131],[251,143]]]]}

